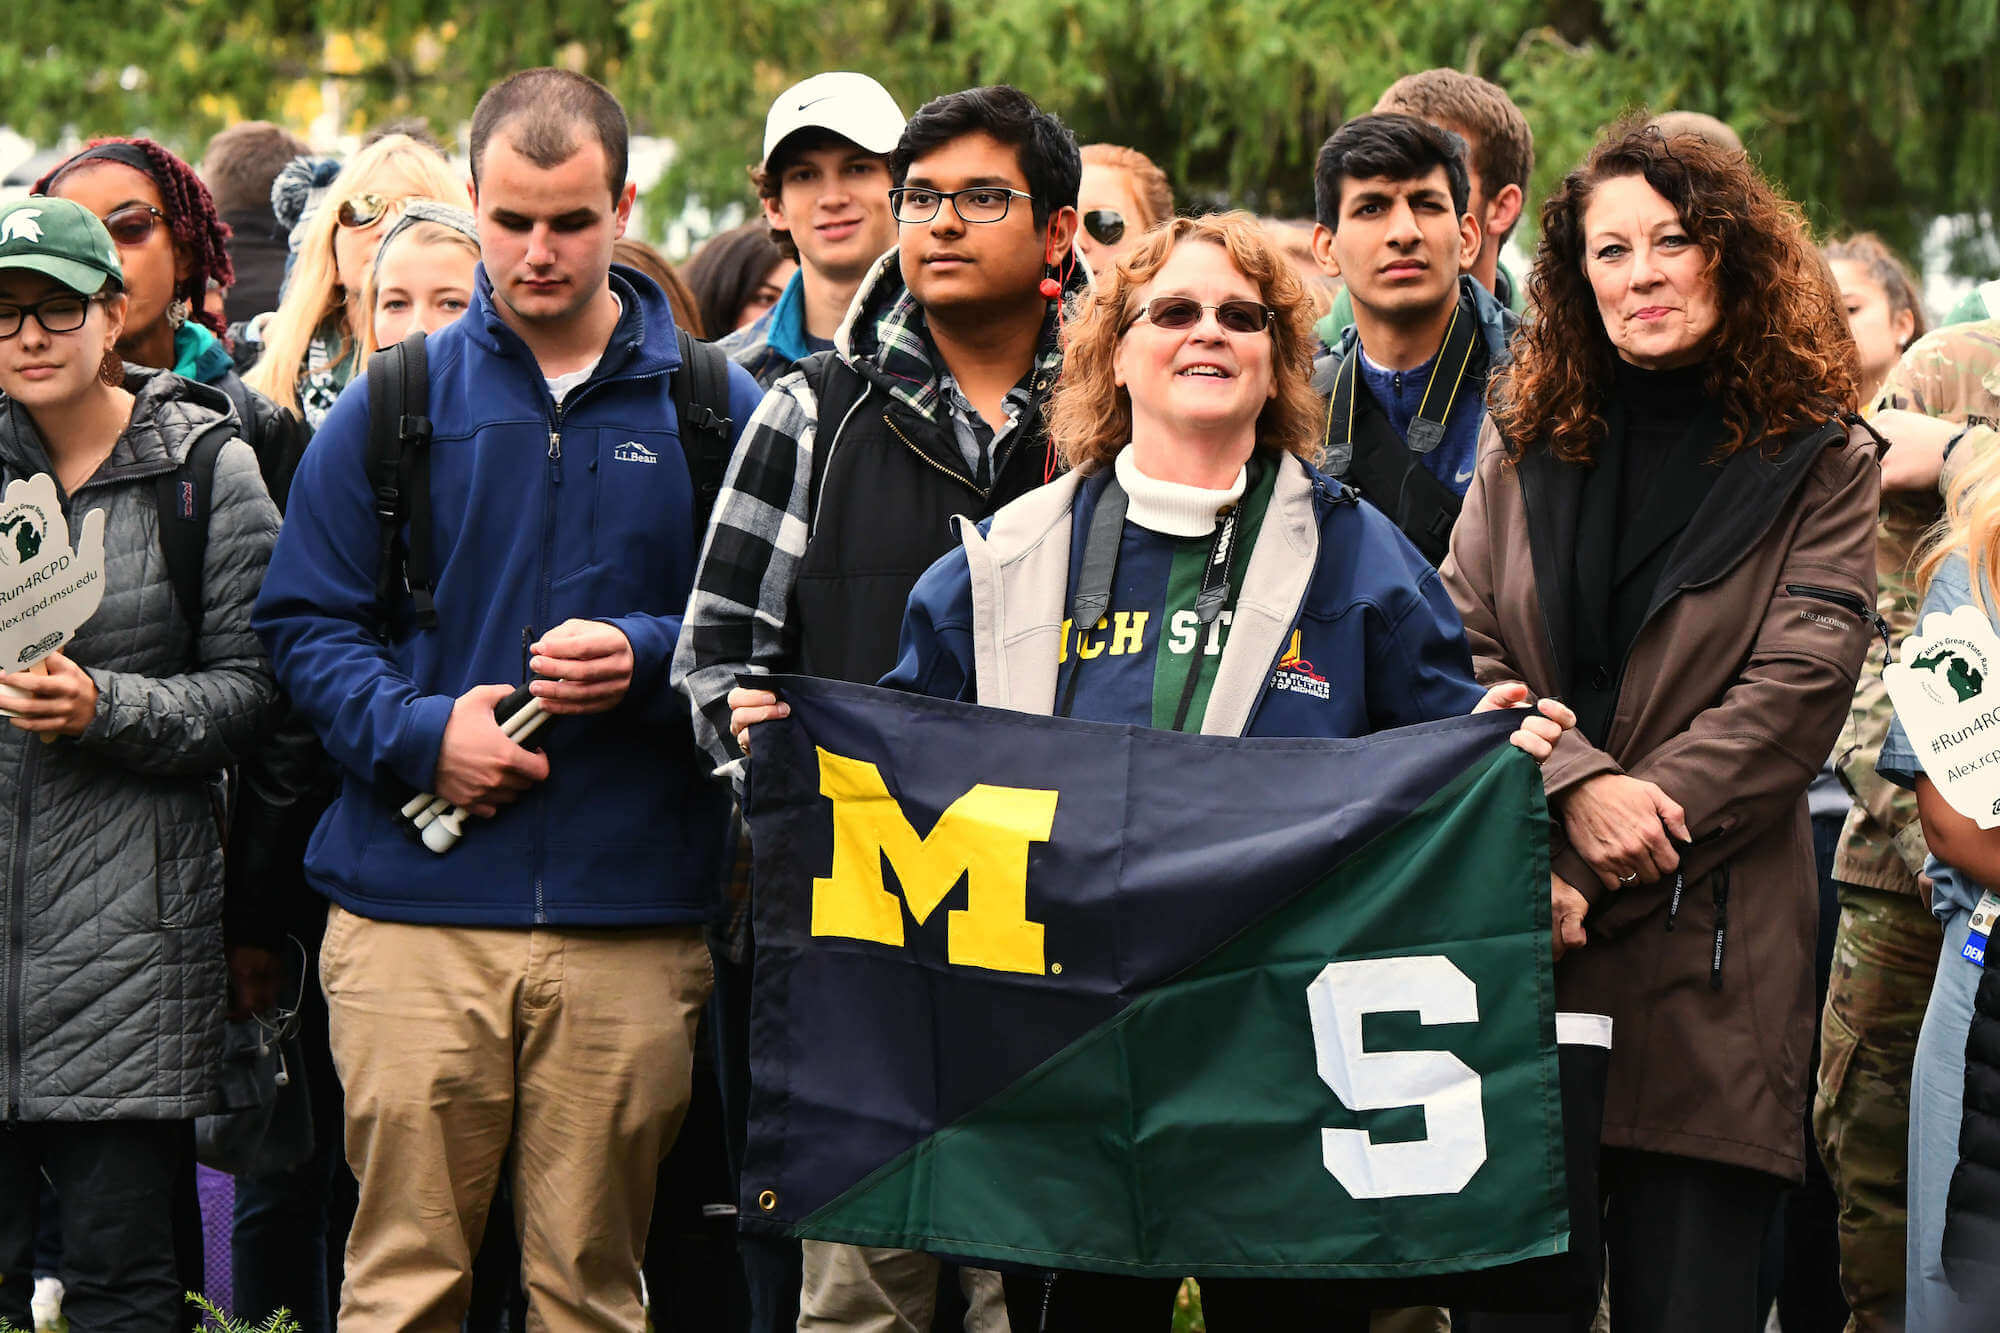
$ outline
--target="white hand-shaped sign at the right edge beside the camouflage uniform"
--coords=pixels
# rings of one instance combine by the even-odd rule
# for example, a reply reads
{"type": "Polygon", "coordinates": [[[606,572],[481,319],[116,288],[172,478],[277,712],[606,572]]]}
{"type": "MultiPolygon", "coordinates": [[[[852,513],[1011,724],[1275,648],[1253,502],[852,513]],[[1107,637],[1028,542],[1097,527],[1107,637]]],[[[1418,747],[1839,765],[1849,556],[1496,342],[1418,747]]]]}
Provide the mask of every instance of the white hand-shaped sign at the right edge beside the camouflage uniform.
{"type": "Polygon", "coordinates": [[[2000,829],[2000,636],[1976,606],[1932,610],[1882,681],[1938,793],[2000,829]]]}

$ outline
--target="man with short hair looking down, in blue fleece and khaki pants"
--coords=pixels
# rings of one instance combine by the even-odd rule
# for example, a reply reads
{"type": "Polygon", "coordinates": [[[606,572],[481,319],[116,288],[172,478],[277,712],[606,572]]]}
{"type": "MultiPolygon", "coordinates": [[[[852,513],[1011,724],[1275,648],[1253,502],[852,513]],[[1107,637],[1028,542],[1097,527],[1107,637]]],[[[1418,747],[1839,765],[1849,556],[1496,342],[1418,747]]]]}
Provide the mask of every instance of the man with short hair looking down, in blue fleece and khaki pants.
{"type": "MultiPolygon", "coordinates": [[[[256,612],[344,771],[306,857],[360,1179],[340,1325],[458,1327],[508,1169],[532,1327],[638,1329],[726,823],[666,683],[700,550],[686,366],[666,296],[610,262],[632,208],[618,102],[532,70],[474,126],[474,304],[428,338],[428,394],[400,414],[430,432],[412,578],[382,578],[388,366],[320,426],[256,612]],[[558,715],[546,753],[494,717],[522,679],[558,715]],[[474,817],[450,855],[408,837],[412,793],[474,817]]],[[[742,422],[756,384],[724,368],[742,422]]]]}

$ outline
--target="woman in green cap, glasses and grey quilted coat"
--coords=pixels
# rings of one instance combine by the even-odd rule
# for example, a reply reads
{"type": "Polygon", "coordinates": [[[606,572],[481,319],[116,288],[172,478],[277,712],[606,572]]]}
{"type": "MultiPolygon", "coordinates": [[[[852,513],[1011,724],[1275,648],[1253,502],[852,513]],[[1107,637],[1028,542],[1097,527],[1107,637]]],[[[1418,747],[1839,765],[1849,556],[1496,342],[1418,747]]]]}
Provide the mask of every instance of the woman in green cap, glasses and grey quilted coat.
{"type": "Polygon", "coordinates": [[[212,777],[276,699],[250,602],[278,510],[222,394],[118,356],[130,308],[90,210],[0,210],[0,482],[52,476],[72,534],[104,512],[96,614],[48,675],[0,673],[0,1321],[22,1329],[44,1171],[70,1323],[170,1329],[182,1311],[170,1201],[184,1123],[210,1109],[226,977],[212,777]],[[218,452],[200,606],[182,606],[160,482],[202,442],[218,452]]]}

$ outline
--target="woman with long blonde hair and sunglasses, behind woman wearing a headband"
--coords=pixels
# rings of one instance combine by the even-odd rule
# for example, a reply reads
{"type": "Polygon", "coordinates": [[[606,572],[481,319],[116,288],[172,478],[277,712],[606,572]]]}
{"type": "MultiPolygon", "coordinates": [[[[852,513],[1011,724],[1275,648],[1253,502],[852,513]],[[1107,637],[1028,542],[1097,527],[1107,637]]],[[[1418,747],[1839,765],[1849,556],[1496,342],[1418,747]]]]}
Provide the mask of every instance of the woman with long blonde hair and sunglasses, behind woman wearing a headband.
{"type": "Polygon", "coordinates": [[[356,152],[302,224],[284,300],[254,336],[264,354],[244,380],[318,430],[334,398],[360,370],[362,284],[376,246],[406,198],[464,208],[466,186],[436,150],[388,134],[356,152]]]}

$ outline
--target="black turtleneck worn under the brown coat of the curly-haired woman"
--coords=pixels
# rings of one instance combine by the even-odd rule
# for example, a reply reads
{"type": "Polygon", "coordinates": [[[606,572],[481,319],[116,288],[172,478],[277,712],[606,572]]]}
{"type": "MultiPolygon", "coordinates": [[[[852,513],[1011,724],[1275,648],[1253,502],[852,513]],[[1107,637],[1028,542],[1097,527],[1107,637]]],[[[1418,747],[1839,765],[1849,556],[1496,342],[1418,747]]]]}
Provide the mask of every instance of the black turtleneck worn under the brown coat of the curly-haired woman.
{"type": "Polygon", "coordinates": [[[1576,522],[1572,624],[1578,731],[1604,745],[1618,679],[1660,592],[1668,558],[1714,484],[1722,408],[1706,368],[1642,370],[1618,362],[1576,522]]]}

